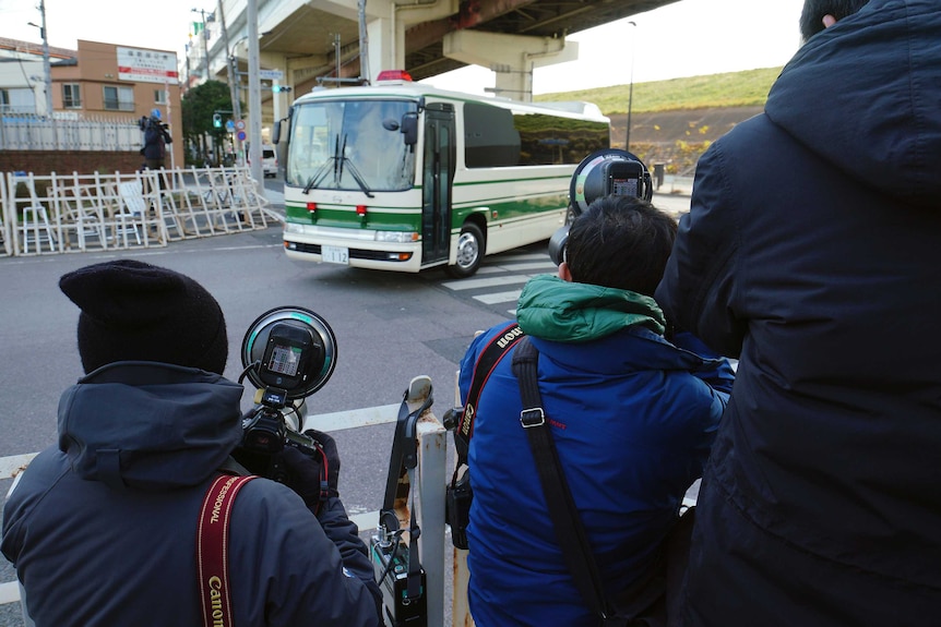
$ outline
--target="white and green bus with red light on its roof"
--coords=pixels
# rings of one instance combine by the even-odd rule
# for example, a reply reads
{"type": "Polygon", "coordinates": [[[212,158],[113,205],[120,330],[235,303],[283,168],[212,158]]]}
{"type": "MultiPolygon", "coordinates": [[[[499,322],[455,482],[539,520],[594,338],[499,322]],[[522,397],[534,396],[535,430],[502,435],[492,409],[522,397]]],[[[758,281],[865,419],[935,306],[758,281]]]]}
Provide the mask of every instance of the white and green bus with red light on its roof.
{"type": "Polygon", "coordinates": [[[610,121],[594,105],[477,97],[396,73],[301,96],[275,136],[290,258],[467,277],[485,254],[564,224],[572,173],[610,146],[610,121]]]}

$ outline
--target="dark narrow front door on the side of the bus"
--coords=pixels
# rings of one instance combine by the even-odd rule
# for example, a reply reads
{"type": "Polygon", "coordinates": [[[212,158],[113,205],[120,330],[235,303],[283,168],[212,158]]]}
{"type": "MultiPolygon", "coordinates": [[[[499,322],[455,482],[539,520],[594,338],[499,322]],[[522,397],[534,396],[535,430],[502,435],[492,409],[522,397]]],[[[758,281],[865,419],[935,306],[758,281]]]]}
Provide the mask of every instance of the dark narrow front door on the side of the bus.
{"type": "Polygon", "coordinates": [[[446,261],[451,250],[451,182],[454,178],[454,106],[425,109],[421,171],[421,264],[446,261]]]}

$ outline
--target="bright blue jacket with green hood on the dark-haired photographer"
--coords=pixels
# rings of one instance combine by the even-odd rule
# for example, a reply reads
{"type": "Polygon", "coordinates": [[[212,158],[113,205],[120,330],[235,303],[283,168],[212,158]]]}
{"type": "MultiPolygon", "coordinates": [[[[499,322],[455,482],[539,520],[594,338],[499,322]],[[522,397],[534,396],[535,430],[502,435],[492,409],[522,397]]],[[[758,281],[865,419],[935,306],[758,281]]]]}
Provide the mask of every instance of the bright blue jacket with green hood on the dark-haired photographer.
{"type": "MultiPolygon", "coordinates": [[[[559,457],[614,593],[651,567],[700,477],[731,369],[665,340],[656,303],[632,292],[539,276],[517,316],[539,350],[559,457]]],[[[470,345],[462,400],[479,351],[504,327],[470,345]]],[[[512,350],[484,387],[470,441],[470,611],[478,627],[594,627],[549,522],[511,362],[512,350]]]]}

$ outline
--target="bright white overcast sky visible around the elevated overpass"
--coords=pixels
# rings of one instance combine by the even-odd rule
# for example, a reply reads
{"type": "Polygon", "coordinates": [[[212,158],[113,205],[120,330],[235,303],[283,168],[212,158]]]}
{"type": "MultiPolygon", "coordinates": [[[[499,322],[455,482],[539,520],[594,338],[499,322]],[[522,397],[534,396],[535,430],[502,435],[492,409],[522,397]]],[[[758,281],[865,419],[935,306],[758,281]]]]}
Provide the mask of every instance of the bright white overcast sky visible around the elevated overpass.
{"type": "MultiPolygon", "coordinates": [[[[199,11],[212,0],[45,0],[49,45],[75,49],[87,39],[172,50],[182,57],[199,11]],[[138,9],[140,7],[140,9],[138,9]]],[[[784,65],[800,43],[803,0],[680,0],[570,36],[579,60],[537,68],[534,94],[569,92],[784,65]],[[631,25],[633,21],[636,25],[631,25]],[[633,58],[633,59],[632,59],[633,58]]],[[[41,43],[39,0],[0,0],[0,37],[41,43]]],[[[449,89],[484,94],[488,69],[468,67],[428,80],[449,89]]]]}

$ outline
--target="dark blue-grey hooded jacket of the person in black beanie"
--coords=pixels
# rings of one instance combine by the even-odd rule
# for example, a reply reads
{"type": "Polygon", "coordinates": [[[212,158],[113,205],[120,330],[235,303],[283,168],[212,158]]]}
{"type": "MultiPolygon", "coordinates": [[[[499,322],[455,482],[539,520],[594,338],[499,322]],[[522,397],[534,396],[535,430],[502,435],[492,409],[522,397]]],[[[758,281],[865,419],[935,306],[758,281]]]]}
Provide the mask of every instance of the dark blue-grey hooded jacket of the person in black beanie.
{"type": "MultiPolygon", "coordinates": [[[[62,395],[59,446],[33,460],[3,510],[3,555],[37,625],[202,624],[199,510],[241,438],[241,393],[203,371],[120,362],[62,395]]],[[[239,492],[236,626],[378,624],[365,546],[340,499],[329,506],[318,521],[266,479],[239,492]]]]}

